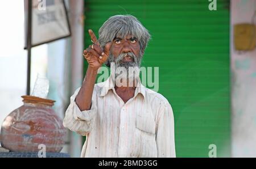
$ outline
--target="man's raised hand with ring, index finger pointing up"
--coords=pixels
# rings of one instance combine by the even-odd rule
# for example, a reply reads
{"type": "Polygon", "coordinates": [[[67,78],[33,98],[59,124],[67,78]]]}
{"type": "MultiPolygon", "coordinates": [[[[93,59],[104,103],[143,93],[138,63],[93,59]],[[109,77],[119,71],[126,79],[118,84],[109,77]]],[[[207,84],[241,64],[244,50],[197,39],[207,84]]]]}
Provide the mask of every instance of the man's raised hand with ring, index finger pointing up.
{"type": "Polygon", "coordinates": [[[98,43],[97,37],[95,36],[94,32],[91,29],[89,29],[88,32],[93,44],[89,45],[89,48],[84,50],[84,57],[87,60],[90,68],[92,68],[93,70],[98,70],[98,68],[100,68],[101,65],[109,57],[111,42],[107,43],[105,45],[105,49],[102,50],[100,47],[100,43],[98,43]]]}

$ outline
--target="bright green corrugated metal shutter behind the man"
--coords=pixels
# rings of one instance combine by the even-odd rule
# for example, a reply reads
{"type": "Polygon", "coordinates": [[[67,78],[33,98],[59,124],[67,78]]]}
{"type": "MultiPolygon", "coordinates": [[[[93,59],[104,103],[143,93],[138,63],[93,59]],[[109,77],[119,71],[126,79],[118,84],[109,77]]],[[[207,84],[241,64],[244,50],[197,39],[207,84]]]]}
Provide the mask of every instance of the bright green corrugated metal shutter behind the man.
{"type": "MultiPolygon", "coordinates": [[[[229,1],[88,0],[85,1],[85,48],[88,29],[112,15],[136,16],[150,31],[142,66],[159,67],[159,92],[175,116],[177,157],[230,156],[229,1]]],[[[86,62],[85,69],[86,71],[86,62]]]]}

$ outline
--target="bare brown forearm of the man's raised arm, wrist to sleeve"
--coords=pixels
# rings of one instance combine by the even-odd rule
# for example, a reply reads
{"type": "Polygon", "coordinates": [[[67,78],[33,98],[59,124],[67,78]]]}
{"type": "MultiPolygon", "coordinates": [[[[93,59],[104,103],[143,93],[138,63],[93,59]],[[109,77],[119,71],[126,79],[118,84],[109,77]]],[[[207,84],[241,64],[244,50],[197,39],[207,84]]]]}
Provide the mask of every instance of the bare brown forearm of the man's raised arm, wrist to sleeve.
{"type": "Polygon", "coordinates": [[[80,111],[86,111],[90,109],[92,104],[92,94],[94,84],[97,78],[97,70],[92,69],[90,66],[86,71],[84,81],[80,88],[79,93],[76,96],[76,104],[79,107],[80,111]]]}

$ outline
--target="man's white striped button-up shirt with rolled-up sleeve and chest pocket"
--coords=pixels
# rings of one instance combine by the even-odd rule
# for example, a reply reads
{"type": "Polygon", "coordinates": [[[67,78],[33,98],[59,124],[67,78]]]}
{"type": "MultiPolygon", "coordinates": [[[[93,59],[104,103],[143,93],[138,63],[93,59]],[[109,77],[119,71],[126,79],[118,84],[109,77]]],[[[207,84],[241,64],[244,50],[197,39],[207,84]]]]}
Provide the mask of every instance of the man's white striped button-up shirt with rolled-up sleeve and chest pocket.
{"type": "Polygon", "coordinates": [[[63,125],[86,136],[81,157],[176,157],[174,115],[168,100],[139,81],[126,103],[112,78],[94,86],[92,107],[80,111],[71,96],[63,125]]]}

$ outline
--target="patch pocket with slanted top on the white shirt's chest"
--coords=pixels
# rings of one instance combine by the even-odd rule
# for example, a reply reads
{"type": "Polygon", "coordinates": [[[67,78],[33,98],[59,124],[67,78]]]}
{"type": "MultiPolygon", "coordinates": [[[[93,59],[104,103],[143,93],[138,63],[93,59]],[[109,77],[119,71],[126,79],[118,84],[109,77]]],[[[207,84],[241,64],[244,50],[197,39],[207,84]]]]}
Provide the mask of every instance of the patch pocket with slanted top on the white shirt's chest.
{"type": "Polygon", "coordinates": [[[148,133],[136,127],[132,147],[131,157],[157,157],[157,147],[154,133],[148,133]]]}

